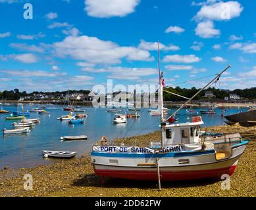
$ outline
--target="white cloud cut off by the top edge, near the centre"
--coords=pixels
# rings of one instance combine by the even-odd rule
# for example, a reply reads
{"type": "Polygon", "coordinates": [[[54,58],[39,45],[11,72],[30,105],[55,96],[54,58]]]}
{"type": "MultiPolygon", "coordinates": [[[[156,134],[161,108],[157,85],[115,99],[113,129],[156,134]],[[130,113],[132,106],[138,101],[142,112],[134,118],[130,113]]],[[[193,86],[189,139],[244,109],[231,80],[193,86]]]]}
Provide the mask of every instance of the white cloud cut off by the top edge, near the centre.
{"type": "Polygon", "coordinates": [[[109,18],[123,17],[135,11],[140,0],[85,0],[85,11],[89,16],[109,18]]]}

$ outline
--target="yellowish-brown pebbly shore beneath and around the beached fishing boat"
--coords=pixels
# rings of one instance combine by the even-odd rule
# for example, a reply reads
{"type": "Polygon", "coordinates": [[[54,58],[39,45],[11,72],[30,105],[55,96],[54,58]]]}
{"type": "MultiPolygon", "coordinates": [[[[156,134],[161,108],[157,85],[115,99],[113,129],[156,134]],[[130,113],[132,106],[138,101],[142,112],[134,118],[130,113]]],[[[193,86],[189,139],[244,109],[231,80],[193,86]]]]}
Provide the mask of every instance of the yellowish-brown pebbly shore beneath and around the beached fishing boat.
{"type": "MultiPolygon", "coordinates": [[[[222,133],[239,132],[244,138],[256,135],[256,127],[224,125],[205,128],[222,133]]],[[[160,133],[142,135],[138,144],[156,140],[160,133]]],[[[122,139],[122,141],[128,140],[122,139]]],[[[121,141],[121,140],[118,140],[121,141]]],[[[101,184],[93,173],[90,155],[74,158],[53,165],[40,165],[31,169],[2,169],[0,171],[0,196],[256,196],[255,182],[256,137],[252,137],[238,167],[231,177],[230,190],[221,190],[220,181],[192,180],[183,182],[163,182],[158,192],[157,182],[107,179],[101,184]],[[25,174],[33,177],[33,190],[24,190],[25,174]]]]}

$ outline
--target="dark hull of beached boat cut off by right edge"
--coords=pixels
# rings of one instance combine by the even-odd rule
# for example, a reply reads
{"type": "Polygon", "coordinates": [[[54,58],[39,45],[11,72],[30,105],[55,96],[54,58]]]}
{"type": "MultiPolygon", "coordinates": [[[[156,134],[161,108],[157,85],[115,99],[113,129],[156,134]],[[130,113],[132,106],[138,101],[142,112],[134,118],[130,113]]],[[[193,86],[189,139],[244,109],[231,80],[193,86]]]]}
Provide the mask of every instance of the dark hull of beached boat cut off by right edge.
{"type": "Polygon", "coordinates": [[[245,121],[256,121],[256,108],[251,108],[246,112],[239,112],[230,116],[224,116],[228,121],[234,123],[245,122],[245,121]]]}

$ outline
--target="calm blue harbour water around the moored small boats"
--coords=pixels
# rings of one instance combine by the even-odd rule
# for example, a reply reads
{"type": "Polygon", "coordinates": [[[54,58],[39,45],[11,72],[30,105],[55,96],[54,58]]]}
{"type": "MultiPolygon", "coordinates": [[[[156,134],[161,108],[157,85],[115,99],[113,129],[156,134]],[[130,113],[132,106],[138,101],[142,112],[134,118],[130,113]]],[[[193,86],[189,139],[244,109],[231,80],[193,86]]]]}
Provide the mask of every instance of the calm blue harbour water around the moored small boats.
{"type": "MultiPolygon", "coordinates": [[[[77,151],[78,156],[90,152],[91,145],[102,136],[109,140],[120,137],[132,137],[157,131],[159,129],[159,116],[150,116],[147,109],[140,111],[139,119],[128,119],[126,124],[113,124],[115,114],[106,112],[104,108],[84,107],[88,113],[86,123],[69,125],[67,121],[59,121],[57,117],[68,114],[63,111],[63,106],[49,106],[50,115],[39,115],[31,113],[27,118],[40,118],[41,123],[32,128],[29,134],[3,136],[2,130],[12,129],[11,123],[14,121],[5,120],[8,114],[0,114],[0,169],[3,166],[11,168],[33,167],[39,164],[47,164],[53,159],[43,159],[42,150],[66,150],[77,151]],[[60,137],[67,135],[86,135],[88,141],[61,142],[60,137]]],[[[24,110],[37,108],[36,106],[24,105],[24,110]]],[[[15,111],[16,106],[5,106],[5,110],[15,111]]],[[[199,112],[199,109],[195,109],[199,112]]],[[[224,115],[234,114],[247,109],[228,109],[224,115]]],[[[172,113],[174,110],[170,110],[172,113]]],[[[223,119],[220,116],[221,110],[217,109],[217,114],[203,115],[204,126],[222,125],[223,119]]],[[[128,112],[126,110],[126,112],[128,112]]],[[[188,115],[186,110],[179,113],[179,122],[185,122],[188,115]]]]}

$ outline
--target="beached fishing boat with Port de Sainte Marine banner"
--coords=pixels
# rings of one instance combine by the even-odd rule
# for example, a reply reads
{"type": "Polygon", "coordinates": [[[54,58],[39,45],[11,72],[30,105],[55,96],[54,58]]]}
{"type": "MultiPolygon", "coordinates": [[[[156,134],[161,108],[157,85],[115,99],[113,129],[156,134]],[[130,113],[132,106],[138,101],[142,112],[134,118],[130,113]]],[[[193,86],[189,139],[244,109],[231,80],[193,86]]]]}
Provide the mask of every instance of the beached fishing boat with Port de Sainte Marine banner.
{"type": "MultiPolygon", "coordinates": [[[[159,59],[160,60],[160,59],[159,59]]],[[[220,179],[224,174],[232,175],[239,158],[248,143],[239,134],[224,137],[201,137],[201,116],[192,117],[186,123],[173,123],[174,116],[193,100],[201,91],[216,83],[228,70],[225,68],[192,98],[182,104],[171,116],[163,114],[163,73],[159,65],[159,111],[161,142],[160,148],[152,144],[132,145],[131,142],[109,142],[101,140],[93,144],[91,163],[95,175],[118,179],[192,180],[220,179]]]]}

